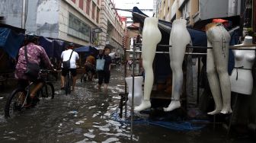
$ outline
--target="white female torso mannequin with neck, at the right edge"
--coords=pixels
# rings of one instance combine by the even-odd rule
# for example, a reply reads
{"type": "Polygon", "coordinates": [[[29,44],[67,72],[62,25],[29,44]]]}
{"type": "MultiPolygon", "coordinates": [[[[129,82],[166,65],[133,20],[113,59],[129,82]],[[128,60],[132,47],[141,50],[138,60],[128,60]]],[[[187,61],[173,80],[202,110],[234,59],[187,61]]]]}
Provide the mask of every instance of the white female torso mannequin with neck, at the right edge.
{"type": "MultiPolygon", "coordinates": [[[[243,45],[251,45],[252,37],[245,37],[243,45]]],[[[255,46],[245,47],[255,49],[255,46]]],[[[251,67],[255,61],[255,50],[232,50],[235,56],[235,68],[230,76],[231,91],[238,94],[250,95],[253,88],[253,78],[251,74],[251,67]]]]}

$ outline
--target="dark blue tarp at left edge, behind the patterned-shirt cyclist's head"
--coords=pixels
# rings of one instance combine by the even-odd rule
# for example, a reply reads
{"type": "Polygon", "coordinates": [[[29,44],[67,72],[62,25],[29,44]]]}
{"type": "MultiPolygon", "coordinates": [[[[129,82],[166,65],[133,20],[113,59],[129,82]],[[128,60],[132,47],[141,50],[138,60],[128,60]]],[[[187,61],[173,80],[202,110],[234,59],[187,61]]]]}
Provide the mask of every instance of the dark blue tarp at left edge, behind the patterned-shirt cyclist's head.
{"type": "Polygon", "coordinates": [[[14,33],[9,28],[0,27],[0,48],[4,49],[12,58],[16,58],[23,42],[23,33],[14,33]]]}

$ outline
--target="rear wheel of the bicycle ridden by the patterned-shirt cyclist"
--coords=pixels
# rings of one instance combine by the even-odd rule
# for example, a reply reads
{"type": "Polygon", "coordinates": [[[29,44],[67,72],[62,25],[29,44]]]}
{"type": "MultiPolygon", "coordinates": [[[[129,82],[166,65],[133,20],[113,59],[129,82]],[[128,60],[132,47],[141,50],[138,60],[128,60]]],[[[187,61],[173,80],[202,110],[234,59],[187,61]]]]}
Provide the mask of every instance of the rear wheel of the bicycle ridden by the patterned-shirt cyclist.
{"type": "Polygon", "coordinates": [[[26,102],[27,91],[17,88],[12,91],[5,103],[5,118],[14,116],[15,112],[21,111],[26,102]]]}

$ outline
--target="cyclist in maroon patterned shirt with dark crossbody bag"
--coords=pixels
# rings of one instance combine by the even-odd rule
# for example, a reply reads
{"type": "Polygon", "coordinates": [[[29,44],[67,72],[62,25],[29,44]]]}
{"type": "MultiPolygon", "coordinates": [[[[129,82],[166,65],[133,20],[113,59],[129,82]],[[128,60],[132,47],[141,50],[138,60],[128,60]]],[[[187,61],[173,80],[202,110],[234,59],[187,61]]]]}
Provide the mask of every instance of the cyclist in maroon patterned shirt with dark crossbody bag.
{"type": "MultiPolygon", "coordinates": [[[[25,45],[27,46],[27,59],[28,62],[31,63],[37,63],[38,65],[44,65],[44,67],[54,70],[53,65],[50,62],[50,59],[48,58],[45,50],[42,46],[37,45],[37,37],[33,35],[27,35],[25,37],[24,41],[25,45]]],[[[24,47],[22,46],[21,49],[19,49],[18,52],[18,62],[15,68],[15,78],[18,79],[18,86],[19,87],[27,87],[30,81],[33,81],[35,83],[35,86],[30,91],[30,99],[31,102],[27,104],[26,106],[31,106],[31,103],[33,101],[38,101],[38,99],[35,99],[35,95],[37,91],[43,87],[42,79],[40,78],[40,75],[37,76],[37,79],[30,79],[25,75],[25,71],[27,70],[27,62],[24,55],[24,47]]]]}

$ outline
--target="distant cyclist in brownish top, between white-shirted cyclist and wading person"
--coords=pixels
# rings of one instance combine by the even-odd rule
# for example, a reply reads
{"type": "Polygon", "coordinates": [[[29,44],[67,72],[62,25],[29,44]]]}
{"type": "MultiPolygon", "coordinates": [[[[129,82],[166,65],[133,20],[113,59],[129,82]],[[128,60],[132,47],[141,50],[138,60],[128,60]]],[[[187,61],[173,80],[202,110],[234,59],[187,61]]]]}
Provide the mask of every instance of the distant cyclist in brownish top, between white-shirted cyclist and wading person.
{"type": "Polygon", "coordinates": [[[94,55],[93,52],[91,52],[91,54],[86,58],[86,61],[85,61],[85,73],[88,74],[88,72],[91,71],[91,77],[88,77],[90,81],[92,80],[93,76],[96,73],[95,58],[93,55],[94,55]]]}

